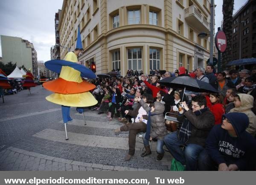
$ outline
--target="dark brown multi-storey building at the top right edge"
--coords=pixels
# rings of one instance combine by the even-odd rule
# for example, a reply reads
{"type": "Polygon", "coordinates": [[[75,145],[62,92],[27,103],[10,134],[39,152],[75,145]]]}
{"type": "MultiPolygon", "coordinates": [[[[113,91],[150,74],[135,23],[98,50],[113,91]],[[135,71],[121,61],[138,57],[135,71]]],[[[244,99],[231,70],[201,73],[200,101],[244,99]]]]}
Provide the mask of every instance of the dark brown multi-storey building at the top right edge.
{"type": "Polygon", "coordinates": [[[233,15],[232,60],[256,58],[256,1],[247,0],[233,15]]]}

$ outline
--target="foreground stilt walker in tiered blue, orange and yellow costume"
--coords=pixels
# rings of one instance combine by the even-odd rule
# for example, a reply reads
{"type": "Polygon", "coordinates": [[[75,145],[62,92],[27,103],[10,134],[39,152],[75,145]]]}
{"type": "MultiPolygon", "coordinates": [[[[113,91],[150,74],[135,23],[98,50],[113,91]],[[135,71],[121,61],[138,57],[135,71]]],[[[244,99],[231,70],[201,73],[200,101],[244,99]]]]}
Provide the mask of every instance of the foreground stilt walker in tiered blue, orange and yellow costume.
{"type": "Polygon", "coordinates": [[[83,47],[79,30],[74,52],[68,52],[64,60],[51,60],[44,63],[47,69],[60,73],[59,78],[44,82],[43,86],[45,89],[54,92],[47,96],[46,99],[61,105],[66,140],[68,140],[66,124],[68,121],[72,120],[70,117],[70,107],[89,107],[98,103],[89,92],[96,86],[87,81],[83,81],[81,78],[96,78],[94,72],[79,64],[77,56],[79,56],[82,51],[83,47]]]}

